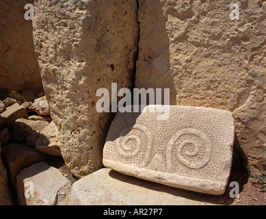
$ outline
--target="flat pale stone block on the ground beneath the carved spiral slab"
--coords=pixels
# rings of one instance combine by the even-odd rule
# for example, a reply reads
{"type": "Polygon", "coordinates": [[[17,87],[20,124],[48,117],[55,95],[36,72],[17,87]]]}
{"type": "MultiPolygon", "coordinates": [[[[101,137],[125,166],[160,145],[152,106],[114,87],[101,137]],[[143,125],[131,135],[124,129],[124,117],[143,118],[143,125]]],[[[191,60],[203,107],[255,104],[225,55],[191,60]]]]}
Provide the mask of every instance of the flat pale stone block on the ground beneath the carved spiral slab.
{"type": "MultiPolygon", "coordinates": [[[[200,194],[202,195],[202,194],[200,194]]],[[[72,185],[70,205],[214,205],[210,198],[103,168],[72,185]]],[[[133,213],[133,212],[132,212],[133,213]]]]}

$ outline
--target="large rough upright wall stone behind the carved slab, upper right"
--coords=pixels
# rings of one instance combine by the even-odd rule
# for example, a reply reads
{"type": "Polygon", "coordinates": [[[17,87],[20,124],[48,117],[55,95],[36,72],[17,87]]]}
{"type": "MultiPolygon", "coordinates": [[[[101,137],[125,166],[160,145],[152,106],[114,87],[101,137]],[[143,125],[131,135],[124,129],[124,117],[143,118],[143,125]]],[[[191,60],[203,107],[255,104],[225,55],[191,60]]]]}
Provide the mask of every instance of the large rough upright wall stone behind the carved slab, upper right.
{"type": "Polygon", "coordinates": [[[266,162],[265,10],[265,1],[139,0],[136,88],[170,88],[172,105],[230,110],[250,164],[266,162]]]}

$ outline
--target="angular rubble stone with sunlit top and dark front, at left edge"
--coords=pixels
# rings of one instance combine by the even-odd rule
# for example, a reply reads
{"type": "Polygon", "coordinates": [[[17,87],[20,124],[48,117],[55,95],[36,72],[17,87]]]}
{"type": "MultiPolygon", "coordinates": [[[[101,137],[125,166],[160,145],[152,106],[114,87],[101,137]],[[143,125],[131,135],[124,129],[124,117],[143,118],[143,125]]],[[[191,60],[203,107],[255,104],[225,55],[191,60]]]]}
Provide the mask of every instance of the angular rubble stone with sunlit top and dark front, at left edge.
{"type": "Polygon", "coordinates": [[[25,107],[18,103],[14,103],[10,107],[7,107],[0,115],[3,117],[5,127],[8,127],[9,130],[12,130],[14,123],[18,118],[27,119],[29,117],[25,107]]]}

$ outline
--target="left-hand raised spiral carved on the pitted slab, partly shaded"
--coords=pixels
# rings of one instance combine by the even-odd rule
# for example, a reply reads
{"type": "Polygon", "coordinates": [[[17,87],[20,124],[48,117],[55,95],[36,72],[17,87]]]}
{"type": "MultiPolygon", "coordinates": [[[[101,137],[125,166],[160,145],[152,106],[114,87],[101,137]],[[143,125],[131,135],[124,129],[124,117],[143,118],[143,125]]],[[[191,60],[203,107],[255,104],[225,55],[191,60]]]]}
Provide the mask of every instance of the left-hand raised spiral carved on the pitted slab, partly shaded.
{"type": "Polygon", "coordinates": [[[141,166],[146,166],[152,150],[152,134],[144,125],[136,124],[133,127],[127,127],[124,129],[120,138],[116,141],[116,150],[124,159],[131,159],[139,154],[144,141],[146,144],[146,153],[141,166]],[[137,134],[139,132],[142,133],[142,136],[146,136],[146,138],[142,139],[141,136],[137,134]]]}

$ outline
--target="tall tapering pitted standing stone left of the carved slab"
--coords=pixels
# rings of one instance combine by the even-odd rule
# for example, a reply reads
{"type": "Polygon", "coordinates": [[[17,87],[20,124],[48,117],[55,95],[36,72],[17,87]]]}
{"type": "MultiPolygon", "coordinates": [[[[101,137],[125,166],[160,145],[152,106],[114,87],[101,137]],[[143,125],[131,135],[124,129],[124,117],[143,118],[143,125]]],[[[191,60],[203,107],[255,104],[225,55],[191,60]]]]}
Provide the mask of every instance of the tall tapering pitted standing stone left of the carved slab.
{"type": "MultiPolygon", "coordinates": [[[[103,166],[111,113],[96,111],[99,88],[131,88],[137,1],[38,0],[34,45],[61,152],[76,177],[103,166]]],[[[111,103],[111,101],[110,101],[111,103]]]]}

